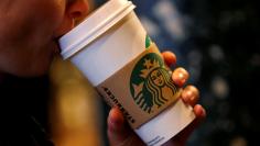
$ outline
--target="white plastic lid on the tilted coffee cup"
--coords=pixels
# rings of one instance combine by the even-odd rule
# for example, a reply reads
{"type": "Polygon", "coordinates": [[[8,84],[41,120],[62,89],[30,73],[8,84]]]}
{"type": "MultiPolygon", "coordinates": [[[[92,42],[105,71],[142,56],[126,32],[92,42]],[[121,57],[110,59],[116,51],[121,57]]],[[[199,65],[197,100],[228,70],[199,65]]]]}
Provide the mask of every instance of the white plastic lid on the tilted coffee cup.
{"type": "Polygon", "coordinates": [[[73,56],[84,46],[95,41],[117,22],[129,14],[136,5],[128,0],[109,0],[84,22],[59,38],[64,59],[73,56]]]}

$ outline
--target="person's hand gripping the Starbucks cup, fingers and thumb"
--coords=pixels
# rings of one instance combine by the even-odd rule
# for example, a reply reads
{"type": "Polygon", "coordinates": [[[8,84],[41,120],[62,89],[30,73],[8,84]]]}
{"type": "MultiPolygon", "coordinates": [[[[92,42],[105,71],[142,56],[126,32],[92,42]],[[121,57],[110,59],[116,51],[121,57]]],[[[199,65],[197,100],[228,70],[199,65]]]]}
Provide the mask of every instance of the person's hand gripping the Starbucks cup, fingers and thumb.
{"type": "MultiPolygon", "coordinates": [[[[176,64],[176,56],[171,52],[162,53],[164,61],[167,66],[176,64]]],[[[172,74],[173,81],[183,87],[188,79],[188,72],[184,68],[176,68],[172,74]]],[[[196,119],[182,132],[172,139],[166,142],[164,146],[184,146],[192,132],[206,117],[205,109],[197,104],[199,91],[194,86],[186,86],[181,94],[182,100],[193,106],[196,119]]],[[[111,146],[145,146],[123,119],[118,108],[112,108],[109,112],[108,120],[108,139],[111,146]]]]}

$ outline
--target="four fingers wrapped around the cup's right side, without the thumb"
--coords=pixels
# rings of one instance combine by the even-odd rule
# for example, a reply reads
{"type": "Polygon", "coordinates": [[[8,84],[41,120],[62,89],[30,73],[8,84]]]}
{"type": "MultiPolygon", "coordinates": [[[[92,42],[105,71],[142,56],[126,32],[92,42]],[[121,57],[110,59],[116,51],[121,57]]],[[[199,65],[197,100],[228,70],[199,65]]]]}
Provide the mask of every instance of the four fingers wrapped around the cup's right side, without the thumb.
{"type": "MultiPolygon", "coordinates": [[[[176,56],[173,53],[164,52],[162,53],[162,56],[167,66],[176,64],[176,56]]],[[[181,67],[176,68],[172,74],[173,82],[180,88],[182,88],[186,83],[189,74],[184,68],[181,67]]],[[[199,91],[196,87],[194,86],[185,87],[182,91],[181,98],[186,104],[193,106],[196,119],[170,142],[170,144],[176,144],[176,145],[184,145],[187,138],[189,137],[191,133],[194,132],[194,130],[206,117],[205,109],[202,105],[197,104],[199,98],[199,91]]]]}

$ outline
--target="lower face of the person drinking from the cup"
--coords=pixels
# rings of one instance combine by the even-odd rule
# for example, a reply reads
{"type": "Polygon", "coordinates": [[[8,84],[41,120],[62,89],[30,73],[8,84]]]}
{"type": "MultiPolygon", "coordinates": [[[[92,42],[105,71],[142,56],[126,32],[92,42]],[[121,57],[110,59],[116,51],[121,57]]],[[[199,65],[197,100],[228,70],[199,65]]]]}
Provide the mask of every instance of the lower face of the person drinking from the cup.
{"type": "Polygon", "coordinates": [[[1,0],[0,72],[45,74],[59,52],[58,37],[87,11],[87,0],[1,0]]]}

